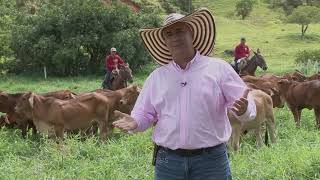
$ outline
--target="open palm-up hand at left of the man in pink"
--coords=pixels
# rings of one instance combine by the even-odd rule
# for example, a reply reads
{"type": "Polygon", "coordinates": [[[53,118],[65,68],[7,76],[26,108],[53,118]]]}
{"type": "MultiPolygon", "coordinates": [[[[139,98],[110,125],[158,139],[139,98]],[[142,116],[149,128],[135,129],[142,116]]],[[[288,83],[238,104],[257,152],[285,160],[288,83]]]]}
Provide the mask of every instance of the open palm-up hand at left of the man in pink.
{"type": "Polygon", "coordinates": [[[114,115],[117,121],[113,122],[112,125],[123,131],[132,131],[138,127],[138,123],[128,114],[122,113],[120,111],[114,111],[114,115]]]}

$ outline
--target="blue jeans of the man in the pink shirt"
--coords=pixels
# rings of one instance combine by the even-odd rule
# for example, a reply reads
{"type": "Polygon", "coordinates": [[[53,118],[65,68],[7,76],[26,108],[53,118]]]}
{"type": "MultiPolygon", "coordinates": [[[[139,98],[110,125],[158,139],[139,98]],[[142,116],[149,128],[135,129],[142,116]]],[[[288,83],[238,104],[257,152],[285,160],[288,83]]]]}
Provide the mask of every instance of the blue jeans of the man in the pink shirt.
{"type": "Polygon", "coordinates": [[[189,157],[160,149],[155,164],[155,180],[180,179],[231,180],[226,145],[189,157]]]}

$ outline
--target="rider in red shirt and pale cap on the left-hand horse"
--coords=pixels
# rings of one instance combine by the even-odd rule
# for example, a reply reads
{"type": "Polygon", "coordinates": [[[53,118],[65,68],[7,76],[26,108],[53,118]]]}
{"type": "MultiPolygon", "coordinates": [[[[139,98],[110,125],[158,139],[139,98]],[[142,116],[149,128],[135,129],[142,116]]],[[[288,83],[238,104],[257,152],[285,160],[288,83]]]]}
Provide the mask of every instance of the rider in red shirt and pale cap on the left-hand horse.
{"type": "Polygon", "coordinates": [[[106,56],[105,59],[105,80],[103,81],[102,87],[111,89],[111,80],[113,78],[113,73],[115,70],[118,70],[119,65],[124,64],[124,60],[117,53],[117,49],[112,47],[110,49],[110,55],[106,56]]]}

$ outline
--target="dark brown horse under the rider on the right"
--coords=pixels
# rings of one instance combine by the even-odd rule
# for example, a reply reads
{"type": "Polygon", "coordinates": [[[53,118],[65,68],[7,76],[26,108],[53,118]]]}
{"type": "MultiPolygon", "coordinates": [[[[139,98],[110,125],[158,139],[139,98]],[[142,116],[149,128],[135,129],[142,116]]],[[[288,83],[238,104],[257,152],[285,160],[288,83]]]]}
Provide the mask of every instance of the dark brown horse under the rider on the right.
{"type": "MultiPolygon", "coordinates": [[[[259,66],[262,70],[266,71],[268,69],[267,63],[264,59],[264,57],[261,55],[260,50],[257,49],[257,52],[254,52],[254,55],[249,59],[243,59],[243,67],[239,67],[239,72],[237,72],[240,76],[244,75],[251,75],[255,76],[255,72],[257,70],[257,67],[259,66]]],[[[232,67],[235,69],[235,66],[232,65],[232,67]]],[[[236,70],[236,69],[235,69],[236,70]]]]}

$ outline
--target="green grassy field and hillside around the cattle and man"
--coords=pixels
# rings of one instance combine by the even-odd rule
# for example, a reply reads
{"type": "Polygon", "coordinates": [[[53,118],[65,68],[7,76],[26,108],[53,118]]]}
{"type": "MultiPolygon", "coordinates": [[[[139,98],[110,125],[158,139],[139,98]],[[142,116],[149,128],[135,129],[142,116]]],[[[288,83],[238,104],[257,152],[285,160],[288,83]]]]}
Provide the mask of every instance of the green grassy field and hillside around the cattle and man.
{"type": "MultiPolygon", "coordinates": [[[[283,24],[280,13],[258,2],[247,20],[232,17],[233,0],[195,0],[196,7],[208,7],[216,16],[217,41],[213,56],[223,55],[246,36],[250,47],[260,48],[269,69],[283,74],[297,68],[299,50],[320,48],[320,25],[312,24],[305,39],[298,25],[283,24]]],[[[142,85],[155,68],[148,65],[135,74],[142,85]]],[[[261,70],[259,70],[261,74],[261,70]]],[[[101,77],[49,78],[0,77],[0,89],[9,92],[46,92],[71,89],[90,91],[100,87],[101,77]]],[[[231,153],[234,179],[320,179],[320,131],[315,129],[312,111],[302,113],[302,127],[295,128],[288,108],[274,109],[277,144],[257,149],[253,136],[244,138],[241,151],[231,153]]],[[[104,144],[96,138],[85,141],[67,138],[64,146],[40,137],[21,138],[19,130],[0,131],[0,179],[153,179],[151,130],[126,135],[117,130],[104,144]]]]}

